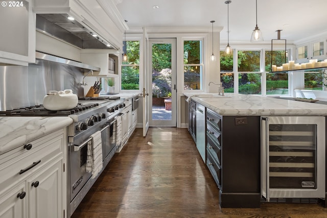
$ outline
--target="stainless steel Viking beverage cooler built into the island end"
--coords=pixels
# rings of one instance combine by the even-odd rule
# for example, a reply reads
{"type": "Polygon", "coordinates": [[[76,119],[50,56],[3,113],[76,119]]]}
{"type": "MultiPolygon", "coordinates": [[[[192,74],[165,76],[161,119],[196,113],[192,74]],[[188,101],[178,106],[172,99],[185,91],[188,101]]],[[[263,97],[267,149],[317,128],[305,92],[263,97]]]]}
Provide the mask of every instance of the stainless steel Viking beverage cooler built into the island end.
{"type": "Polygon", "coordinates": [[[261,117],[261,130],[263,201],[325,198],[325,117],[261,117]]]}

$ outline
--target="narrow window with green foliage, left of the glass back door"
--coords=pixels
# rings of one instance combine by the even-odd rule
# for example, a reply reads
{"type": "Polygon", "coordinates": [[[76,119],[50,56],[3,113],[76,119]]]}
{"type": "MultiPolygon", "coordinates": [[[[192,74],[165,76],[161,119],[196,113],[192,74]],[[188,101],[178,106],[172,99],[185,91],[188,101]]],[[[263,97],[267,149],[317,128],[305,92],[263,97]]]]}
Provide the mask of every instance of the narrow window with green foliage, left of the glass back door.
{"type": "Polygon", "coordinates": [[[127,61],[122,57],[122,90],[139,90],[139,41],[124,41],[124,46],[127,61]]]}

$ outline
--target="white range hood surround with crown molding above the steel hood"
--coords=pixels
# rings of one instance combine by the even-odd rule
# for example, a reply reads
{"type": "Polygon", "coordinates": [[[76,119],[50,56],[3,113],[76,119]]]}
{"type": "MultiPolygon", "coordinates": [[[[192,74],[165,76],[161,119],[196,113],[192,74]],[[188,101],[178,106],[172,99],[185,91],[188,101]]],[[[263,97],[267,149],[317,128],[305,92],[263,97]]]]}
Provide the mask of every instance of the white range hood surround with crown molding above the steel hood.
{"type": "MultiPolygon", "coordinates": [[[[51,15],[62,14],[66,17],[73,17],[75,19],[73,22],[85,30],[83,34],[86,34],[86,37],[95,37],[102,43],[109,43],[112,46],[108,47],[109,49],[121,50],[123,47],[122,36],[127,25],[116,8],[114,0],[34,0],[33,12],[40,14],[40,19],[45,18],[44,23],[48,23],[49,26],[48,21],[61,22],[58,21],[58,17],[51,15]]],[[[64,29],[64,33],[74,33],[74,28],[67,30],[64,26],[65,24],[59,24],[59,27],[64,29]]],[[[47,32],[47,30],[41,31],[47,32]]],[[[60,38],[60,36],[56,37],[60,38]]],[[[83,43],[87,41],[85,39],[83,43]]]]}

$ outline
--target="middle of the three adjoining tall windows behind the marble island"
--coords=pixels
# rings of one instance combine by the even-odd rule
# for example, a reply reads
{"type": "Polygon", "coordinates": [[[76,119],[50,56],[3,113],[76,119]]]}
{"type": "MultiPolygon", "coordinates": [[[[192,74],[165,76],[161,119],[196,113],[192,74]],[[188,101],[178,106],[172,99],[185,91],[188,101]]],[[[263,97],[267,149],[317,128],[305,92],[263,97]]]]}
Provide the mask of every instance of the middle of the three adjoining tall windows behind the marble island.
{"type": "Polygon", "coordinates": [[[260,51],[238,51],[240,72],[238,79],[241,94],[261,94],[260,53],[260,51]]]}

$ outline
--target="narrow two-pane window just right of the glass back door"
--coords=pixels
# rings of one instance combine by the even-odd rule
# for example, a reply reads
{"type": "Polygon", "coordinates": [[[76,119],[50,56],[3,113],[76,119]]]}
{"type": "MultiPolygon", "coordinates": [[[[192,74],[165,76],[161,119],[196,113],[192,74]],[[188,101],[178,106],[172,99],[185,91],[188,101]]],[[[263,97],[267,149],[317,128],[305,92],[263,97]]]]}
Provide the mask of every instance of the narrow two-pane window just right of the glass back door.
{"type": "Polygon", "coordinates": [[[184,41],[184,90],[202,90],[202,41],[184,41]]]}

